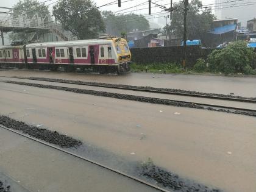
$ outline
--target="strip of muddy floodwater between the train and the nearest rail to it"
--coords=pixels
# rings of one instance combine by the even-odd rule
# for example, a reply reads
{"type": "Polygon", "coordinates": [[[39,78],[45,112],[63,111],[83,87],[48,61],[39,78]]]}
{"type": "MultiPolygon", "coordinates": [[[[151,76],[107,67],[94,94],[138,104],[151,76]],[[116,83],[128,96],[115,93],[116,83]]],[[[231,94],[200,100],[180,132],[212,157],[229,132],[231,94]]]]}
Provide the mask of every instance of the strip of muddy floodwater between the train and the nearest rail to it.
{"type": "Polygon", "coordinates": [[[122,76],[63,73],[51,71],[9,70],[0,71],[0,76],[48,77],[55,79],[83,80],[109,84],[125,84],[176,88],[205,93],[234,93],[238,96],[256,97],[255,77],[202,76],[184,74],[129,73],[122,76]]]}

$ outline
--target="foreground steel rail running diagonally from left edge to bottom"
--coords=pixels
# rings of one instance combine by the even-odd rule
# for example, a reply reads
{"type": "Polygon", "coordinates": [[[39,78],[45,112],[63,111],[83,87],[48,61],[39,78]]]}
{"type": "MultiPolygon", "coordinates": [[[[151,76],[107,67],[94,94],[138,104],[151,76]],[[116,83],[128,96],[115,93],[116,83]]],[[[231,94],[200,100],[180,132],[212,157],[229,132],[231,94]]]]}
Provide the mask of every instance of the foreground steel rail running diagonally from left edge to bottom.
{"type": "Polygon", "coordinates": [[[44,141],[42,141],[42,140],[38,140],[37,138],[30,137],[29,135],[26,135],[26,134],[21,133],[21,132],[18,132],[18,131],[16,131],[16,130],[10,129],[10,128],[8,128],[8,127],[5,127],[5,126],[0,125],[0,128],[5,129],[5,130],[9,130],[10,132],[16,133],[16,134],[21,135],[21,136],[23,136],[23,137],[26,137],[26,138],[28,138],[29,140],[33,140],[33,141],[36,141],[36,142],[38,142],[38,143],[44,144],[45,146],[48,146],[48,147],[50,147],[50,148],[53,148],[53,149],[56,149],[56,150],[58,150],[58,151],[64,152],[65,154],[72,155],[73,157],[79,158],[79,159],[84,160],[84,161],[86,161],[86,162],[93,163],[94,165],[98,165],[98,166],[100,166],[101,168],[107,169],[108,171],[115,172],[115,173],[117,173],[117,174],[119,174],[119,175],[121,175],[121,176],[124,176],[124,177],[127,177],[127,178],[129,178],[129,179],[135,180],[136,182],[140,182],[140,183],[142,183],[142,184],[144,184],[144,185],[148,185],[148,186],[151,187],[151,188],[155,188],[155,189],[158,190],[158,191],[171,192],[171,191],[165,190],[165,189],[163,189],[163,188],[157,187],[157,186],[155,186],[155,185],[152,185],[151,183],[146,182],[146,181],[144,181],[144,180],[138,179],[137,177],[130,176],[129,174],[126,174],[126,173],[124,173],[124,172],[121,172],[121,171],[118,171],[118,170],[116,170],[116,169],[110,168],[110,167],[108,167],[108,166],[102,165],[101,163],[94,162],[93,160],[90,160],[90,159],[88,159],[88,158],[82,157],[81,155],[77,155],[77,154],[74,154],[73,152],[67,151],[67,150],[65,150],[65,149],[58,148],[57,146],[54,146],[53,144],[49,144],[49,143],[46,143],[46,142],[44,142],[44,141]]]}

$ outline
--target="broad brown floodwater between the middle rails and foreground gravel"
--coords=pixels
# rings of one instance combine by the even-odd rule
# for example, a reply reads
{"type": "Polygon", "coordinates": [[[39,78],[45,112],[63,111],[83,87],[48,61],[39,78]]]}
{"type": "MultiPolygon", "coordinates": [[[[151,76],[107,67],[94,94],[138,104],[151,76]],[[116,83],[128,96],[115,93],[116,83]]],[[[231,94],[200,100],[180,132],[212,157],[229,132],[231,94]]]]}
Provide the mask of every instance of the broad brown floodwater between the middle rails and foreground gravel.
{"type": "Polygon", "coordinates": [[[127,160],[150,157],[224,191],[255,192],[256,118],[0,83],[0,113],[127,160]]]}

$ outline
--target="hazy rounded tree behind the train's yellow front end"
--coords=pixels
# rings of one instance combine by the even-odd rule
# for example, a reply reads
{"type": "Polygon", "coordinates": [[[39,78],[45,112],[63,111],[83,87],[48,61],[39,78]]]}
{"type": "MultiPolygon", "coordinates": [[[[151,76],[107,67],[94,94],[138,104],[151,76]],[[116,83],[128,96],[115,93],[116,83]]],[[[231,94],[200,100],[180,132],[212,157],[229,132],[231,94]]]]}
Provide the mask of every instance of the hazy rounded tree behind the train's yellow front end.
{"type": "Polygon", "coordinates": [[[127,15],[115,15],[111,11],[102,12],[104,22],[106,25],[106,32],[110,35],[119,36],[121,32],[127,30],[127,32],[132,32],[132,30],[148,30],[149,21],[143,15],[137,15],[130,13],[127,15]]]}

